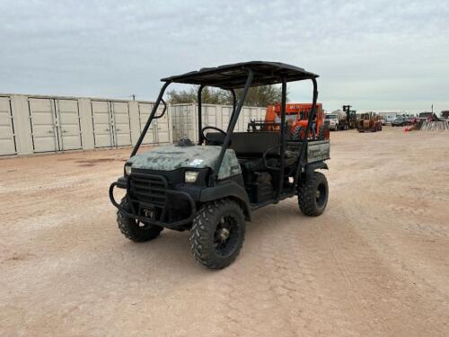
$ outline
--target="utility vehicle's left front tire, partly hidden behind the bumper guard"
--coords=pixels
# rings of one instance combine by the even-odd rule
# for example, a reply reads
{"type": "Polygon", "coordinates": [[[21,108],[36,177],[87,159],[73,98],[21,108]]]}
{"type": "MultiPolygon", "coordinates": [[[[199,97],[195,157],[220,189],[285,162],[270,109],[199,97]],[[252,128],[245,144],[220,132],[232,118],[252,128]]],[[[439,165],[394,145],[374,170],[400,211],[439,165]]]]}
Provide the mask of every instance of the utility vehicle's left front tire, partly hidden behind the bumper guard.
{"type": "MultiPolygon", "coordinates": [[[[129,209],[126,198],[121,200],[120,206],[127,210],[129,209]]],[[[127,217],[120,210],[117,211],[117,224],[119,225],[121,234],[136,243],[153,240],[163,231],[163,227],[161,226],[154,226],[137,221],[132,217],[127,217]]]]}

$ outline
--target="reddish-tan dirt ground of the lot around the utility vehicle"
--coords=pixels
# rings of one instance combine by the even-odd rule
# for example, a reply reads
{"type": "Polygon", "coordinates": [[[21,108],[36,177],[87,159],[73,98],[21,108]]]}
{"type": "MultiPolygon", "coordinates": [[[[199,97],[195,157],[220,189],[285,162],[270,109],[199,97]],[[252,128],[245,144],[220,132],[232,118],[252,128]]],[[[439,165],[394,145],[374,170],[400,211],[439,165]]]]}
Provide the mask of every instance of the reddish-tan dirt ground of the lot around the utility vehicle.
{"type": "Polygon", "coordinates": [[[0,335],[449,335],[449,133],[331,133],[325,213],[258,210],[219,271],[119,233],[129,152],[0,160],[0,335]]]}

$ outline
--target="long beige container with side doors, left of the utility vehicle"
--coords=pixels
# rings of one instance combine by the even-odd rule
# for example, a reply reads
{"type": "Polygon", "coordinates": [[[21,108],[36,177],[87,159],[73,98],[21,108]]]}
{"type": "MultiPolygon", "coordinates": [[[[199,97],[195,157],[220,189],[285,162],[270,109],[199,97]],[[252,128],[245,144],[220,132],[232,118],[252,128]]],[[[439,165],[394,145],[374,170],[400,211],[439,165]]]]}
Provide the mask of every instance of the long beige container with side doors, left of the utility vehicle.
{"type": "MultiPolygon", "coordinates": [[[[131,146],[152,108],[153,102],[0,94],[0,155],[131,146]]],[[[144,143],[171,142],[171,117],[165,113],[144,143]]]]}

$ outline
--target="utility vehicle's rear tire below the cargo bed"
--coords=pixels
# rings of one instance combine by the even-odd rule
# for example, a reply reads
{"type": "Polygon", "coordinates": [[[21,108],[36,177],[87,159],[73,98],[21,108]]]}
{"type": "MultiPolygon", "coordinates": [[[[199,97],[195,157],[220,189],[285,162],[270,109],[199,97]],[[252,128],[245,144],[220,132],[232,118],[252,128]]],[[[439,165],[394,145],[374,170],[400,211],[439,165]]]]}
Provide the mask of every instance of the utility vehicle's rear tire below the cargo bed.
{"type": "Polygon", "coordinates": [[[298,184],[298,205],[304,216],[320,216],[328,204],[328,198],[328,181],[320,172],[314,172],[308,181],[298,184]]]}

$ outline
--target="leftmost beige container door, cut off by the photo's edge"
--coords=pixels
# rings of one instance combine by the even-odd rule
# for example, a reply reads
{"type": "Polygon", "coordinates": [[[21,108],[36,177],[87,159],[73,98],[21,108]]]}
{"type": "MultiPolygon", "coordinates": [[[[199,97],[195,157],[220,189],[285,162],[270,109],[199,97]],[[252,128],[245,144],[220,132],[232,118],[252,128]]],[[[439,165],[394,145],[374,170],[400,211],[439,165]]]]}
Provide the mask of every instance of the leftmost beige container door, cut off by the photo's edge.
{"type": "Polygon", "coordinates": [[[0,97],[0,155],[15,155],[13,115],[9,97],[0,97]]]}

